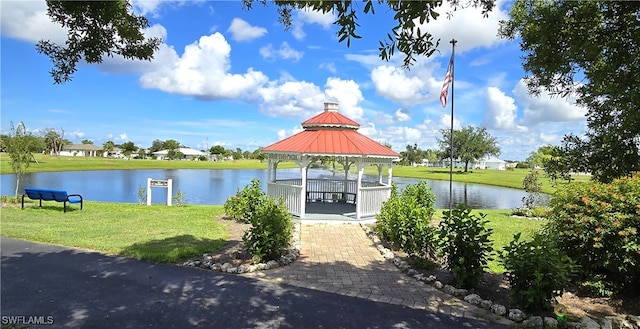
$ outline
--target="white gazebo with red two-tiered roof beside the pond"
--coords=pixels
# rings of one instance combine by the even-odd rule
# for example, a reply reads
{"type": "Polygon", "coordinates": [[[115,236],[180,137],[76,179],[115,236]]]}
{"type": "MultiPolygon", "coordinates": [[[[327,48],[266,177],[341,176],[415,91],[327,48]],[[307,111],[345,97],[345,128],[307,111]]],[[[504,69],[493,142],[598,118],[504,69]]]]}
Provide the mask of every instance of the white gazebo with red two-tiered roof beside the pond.
{"type": "Polygon", "coordinates": [[[262,149],[268,156],[267,194],[282,198],[289,212],[305,218],[307,205],[355,206],[355,218],[373,216],[391,193],[392,163],[399,154],[360,134],[360,124],[338,112],[338,103],[325,102],[324,112],[304,121],[303,131],[262,149]],[[332,157],[342,164],[344,177],[309,179],[308,169],[320,157],[332,157]],[[300,166],[300,178],[278,179],[280,162],[300,166]],[[356,178],[349,176],[355,165],[356,178]],[[378,168],[376,180],[363,180],[366,166],[378,168]],[[387,177],[382,171],[387,167],[387,177]],[[333,205],[329,205],[333,204],[333,205]]]}

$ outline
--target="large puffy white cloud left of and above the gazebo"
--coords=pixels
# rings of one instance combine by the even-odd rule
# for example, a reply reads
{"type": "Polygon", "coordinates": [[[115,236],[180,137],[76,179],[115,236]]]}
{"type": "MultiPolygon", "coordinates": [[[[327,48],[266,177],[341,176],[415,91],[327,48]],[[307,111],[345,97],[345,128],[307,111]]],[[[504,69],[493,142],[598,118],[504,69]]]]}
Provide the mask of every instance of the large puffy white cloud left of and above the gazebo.
{"type": "Polygon", "coordinates": [[[173,48],[165,51],[154,58],[153,70],[140,77],[143,87],[203,99],[251,99],[268,81],[252,68],[245,74],[229,73],[231,46],[218,32],[187,45],[182,57],[173,48]]]}

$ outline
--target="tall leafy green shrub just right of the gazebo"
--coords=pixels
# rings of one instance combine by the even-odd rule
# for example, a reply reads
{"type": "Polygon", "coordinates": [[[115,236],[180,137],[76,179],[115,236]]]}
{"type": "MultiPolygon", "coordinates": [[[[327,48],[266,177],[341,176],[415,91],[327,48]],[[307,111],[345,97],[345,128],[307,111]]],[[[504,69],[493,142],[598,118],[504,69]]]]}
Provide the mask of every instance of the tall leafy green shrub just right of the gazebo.
{"type": "Polygon", "coordinates": [[[429,224],[435,212],[435,195],[425,181],[408,185],[398,194],[395,183],[391,197],[376,216],[376,232],[409,255],[435,255],[435,228],[429,224]]]}

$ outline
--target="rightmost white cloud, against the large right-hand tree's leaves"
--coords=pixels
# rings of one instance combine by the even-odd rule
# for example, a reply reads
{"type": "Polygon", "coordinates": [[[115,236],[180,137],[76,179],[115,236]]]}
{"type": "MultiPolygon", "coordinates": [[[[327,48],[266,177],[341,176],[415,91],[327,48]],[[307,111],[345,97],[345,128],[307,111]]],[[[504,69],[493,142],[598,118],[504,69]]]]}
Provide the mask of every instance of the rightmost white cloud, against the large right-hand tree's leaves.
{"type": "Polygon", "coordinates": [[[548,94],[540,96],[530,95],[526,82],[520,79],[513,90],[513,94],[524,108],[524,118],[521,124],[526,126],[538,125],[544,122],[577,122],[584,121],[586,109],[576,105],[574,98],[564,99],[551,97],[548,94]]]}

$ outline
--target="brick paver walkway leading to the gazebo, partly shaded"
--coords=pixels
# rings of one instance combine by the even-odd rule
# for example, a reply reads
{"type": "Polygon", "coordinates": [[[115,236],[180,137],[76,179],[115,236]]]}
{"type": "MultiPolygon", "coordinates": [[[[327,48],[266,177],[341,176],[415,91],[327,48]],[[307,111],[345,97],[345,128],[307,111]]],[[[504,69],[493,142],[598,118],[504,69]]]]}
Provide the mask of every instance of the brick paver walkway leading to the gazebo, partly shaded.
{"type": "Polygon", "coordinates": [[[511,324],[400,272],[357,224],[302,224],[300,257],[291,265],[244,274],[271,282],[511,324]]]}

